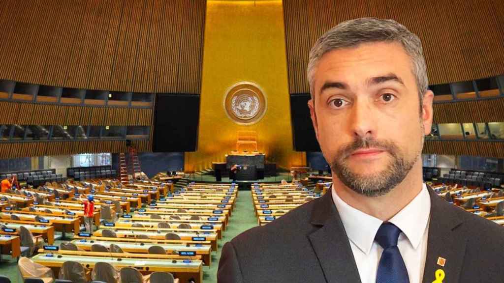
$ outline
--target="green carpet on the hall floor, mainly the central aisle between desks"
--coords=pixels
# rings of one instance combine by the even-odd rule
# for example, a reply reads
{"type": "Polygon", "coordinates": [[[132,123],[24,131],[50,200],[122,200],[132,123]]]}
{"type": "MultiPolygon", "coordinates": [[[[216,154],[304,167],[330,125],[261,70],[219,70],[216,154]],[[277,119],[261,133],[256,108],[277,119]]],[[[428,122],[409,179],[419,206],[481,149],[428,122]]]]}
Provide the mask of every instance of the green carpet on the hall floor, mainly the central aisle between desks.
{"type": "MultiPolygon", "coordinates": [[[[257,226],[257,218],[254,214],[254,205],[250,191],[239,191],[236,198],[236,207],[232,217],[229,219],[227,230],[224,231],[222,239],[219,240],[217,253],[212,252],[212,266],[203,266],[203,281],[205,283],[217,282],[217,268],[221,255],[222,246],[241,232],[257,226]]],[[[54,245],[59,246],[60,241],[55,241],[54,245]]],[[[0,263],[0,275],[7,276],[13,283],[22,283],[19,277],[16,259],[10,256],[3,256],[0,263]]],[[[55,274],[57,276],[57,274],[55,274]]]]}

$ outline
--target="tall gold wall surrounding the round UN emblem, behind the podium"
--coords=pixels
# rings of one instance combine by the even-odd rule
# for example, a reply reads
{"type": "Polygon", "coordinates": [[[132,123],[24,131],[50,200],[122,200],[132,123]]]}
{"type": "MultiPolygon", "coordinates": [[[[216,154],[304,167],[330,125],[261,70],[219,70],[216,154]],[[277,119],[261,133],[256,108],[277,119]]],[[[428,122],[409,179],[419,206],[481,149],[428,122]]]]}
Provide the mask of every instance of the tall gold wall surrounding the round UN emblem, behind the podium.
{"type": "Polygon", "coordinates": [[[238,130],[255,130],[268,162],[304,165],[293,151],[281,1],[208,1],[198,151],[185,154],[185,170],[209,168],[236,148],[238,130]],[[261,120],[238,125],[224,109],[229,87],[247,81],[263,91],[268,108],[261,120]]]}

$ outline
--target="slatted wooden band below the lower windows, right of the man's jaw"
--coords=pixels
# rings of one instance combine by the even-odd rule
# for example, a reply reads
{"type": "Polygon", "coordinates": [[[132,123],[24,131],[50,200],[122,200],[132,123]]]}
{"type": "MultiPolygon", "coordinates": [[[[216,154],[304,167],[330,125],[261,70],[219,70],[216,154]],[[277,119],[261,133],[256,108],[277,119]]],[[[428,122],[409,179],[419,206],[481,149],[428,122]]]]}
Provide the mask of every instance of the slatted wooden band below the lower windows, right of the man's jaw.
{"type": "Polygon", "coordinates": [[[465,155],[504,158],[502,142],[465,142],[459,140],[425,140],[424,154],[465,155]]]}

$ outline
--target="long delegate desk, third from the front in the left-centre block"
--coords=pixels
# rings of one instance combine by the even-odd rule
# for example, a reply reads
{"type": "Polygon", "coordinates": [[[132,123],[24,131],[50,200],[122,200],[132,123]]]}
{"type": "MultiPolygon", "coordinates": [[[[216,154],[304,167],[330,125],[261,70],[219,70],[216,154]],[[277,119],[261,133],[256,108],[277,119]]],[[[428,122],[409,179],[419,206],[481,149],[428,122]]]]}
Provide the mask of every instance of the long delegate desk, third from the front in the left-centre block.
{"type": "MultiPolygon", "coordinates": [[[[116,230],[113,229],[114,227],[106,227],[109,230],[112,230],[115,232],[118,238],[138,238],[139,235],[143,235],[144,237],[147,236],[149,239],[156,239],[156,240],[166,240],[165,234],[166,233],[160,233],[159,231],[135,231],[135,230],[116,230]],[[110,229],[112,228],[112,229],[110,229]]],[[[102,229],[99,229],[93,233],[93,235],[102,237],[102,229]]],[[[168,232],[167,232],[168,233],[168,232]]],[[[171,232],[173,233],[173,232],[171,232]]],[[[212,245],[213,250],[217,250],[217,234],[215,233],[208,233],[208,232],[203,232],[203,233],[190,233],[190,232],[177,232],[174,233],[177,234],[181,240],[185,241],[210,241],[210,244],[212,245]]]]}

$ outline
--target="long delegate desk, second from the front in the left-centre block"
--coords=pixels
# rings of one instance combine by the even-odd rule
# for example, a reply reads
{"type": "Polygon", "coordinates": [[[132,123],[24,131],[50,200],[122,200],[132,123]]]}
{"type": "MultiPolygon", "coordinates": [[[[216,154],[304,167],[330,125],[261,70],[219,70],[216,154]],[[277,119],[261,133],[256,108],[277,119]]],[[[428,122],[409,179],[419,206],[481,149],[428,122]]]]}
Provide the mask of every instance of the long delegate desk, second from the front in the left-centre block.
{"type": "Polygon", "coordinates": [[[194,252],[196,255],[199,255],[203,259],[204,265],[211,266],[212,262],[212,247],[210,245],[202,245],[202,244],[156,244],[156,243],[131,243],[131,242],[115,242],[115,241],[88,241],[86,239],[83,240],[73,240],[73,244],[77,247],[89,251],[91,250],[91,245],[100,244],[105,247],[109,247],[110,244],[114,244],[119,246],[124,252],[130,253],[149,253],[149,248],[152,246],[160,246],[168,254],[172,254],[173,252],[194,252]]]}

